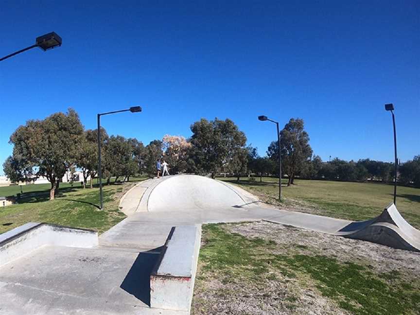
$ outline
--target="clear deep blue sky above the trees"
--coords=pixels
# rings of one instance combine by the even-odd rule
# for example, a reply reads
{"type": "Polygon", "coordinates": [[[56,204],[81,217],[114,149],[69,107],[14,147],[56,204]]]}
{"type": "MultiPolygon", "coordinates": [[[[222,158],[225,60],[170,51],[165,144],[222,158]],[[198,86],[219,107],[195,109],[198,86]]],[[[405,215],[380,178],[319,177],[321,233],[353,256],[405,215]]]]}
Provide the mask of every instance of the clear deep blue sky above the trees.
{"type": "Polygon", "coordinates": [[[420,154],[418,0],[3,0],[0,21],[0,56],[63,38],[0,62],[1,163],[28,119],[73,107],[95,128],[133,105],[103,118],[109,134],[147,144],[230,118],[264,155],[275,125],[257,116],[299,117],[324,160],[392,161],[392,102],[399,157],[420,154]]]}

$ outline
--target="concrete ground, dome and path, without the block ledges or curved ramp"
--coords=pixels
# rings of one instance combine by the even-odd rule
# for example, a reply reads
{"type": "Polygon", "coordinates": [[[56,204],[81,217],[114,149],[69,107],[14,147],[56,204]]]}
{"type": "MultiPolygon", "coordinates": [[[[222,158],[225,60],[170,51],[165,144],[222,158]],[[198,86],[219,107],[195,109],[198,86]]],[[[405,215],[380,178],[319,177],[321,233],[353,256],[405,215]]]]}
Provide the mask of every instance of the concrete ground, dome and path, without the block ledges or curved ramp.
{"type": "Polygon", "coordinates": [[[186,314],[148,306],[150,272],[171,227],[265,219],[334,233],[350,223],[264,208],[240,188],[196,175],[141,182],[120,206],[129,216],[97,247],[41,247],[1,267],[0,315],[186,314]]]}

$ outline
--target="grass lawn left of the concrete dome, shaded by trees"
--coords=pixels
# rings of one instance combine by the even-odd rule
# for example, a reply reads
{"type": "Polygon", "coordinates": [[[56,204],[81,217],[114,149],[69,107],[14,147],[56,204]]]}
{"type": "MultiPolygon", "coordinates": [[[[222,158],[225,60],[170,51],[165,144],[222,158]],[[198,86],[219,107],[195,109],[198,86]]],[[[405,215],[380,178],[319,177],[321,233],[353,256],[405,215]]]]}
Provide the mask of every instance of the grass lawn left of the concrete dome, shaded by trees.
{"type": "MultiPolygon", "coordinates": [[[[130,181],[145,178],[130,178],[130,181]]],[[[105,232],[125,218],[118,208],[120,198],[134,184],[104,186],[104,208],[99,210],[98,188],[83,189],[80,183],[73,187],[60,183],[55,200],[49,199],[49,184],[22,186],[18,204],[0,208],[0,233],[28,222],[46,222],[70,227],[83,227],[105,232]]],[[[20,192],[19,186],[0,187],[0,195],[20,192]]]]}

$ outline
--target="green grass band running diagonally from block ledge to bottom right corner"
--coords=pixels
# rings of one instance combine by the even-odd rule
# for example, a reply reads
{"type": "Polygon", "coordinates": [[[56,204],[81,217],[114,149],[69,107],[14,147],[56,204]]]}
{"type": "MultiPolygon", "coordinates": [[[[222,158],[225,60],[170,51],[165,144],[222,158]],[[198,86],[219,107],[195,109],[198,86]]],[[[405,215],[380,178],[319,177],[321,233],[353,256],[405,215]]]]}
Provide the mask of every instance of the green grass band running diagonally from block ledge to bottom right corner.
{"type": "Polygon", "coordinates": [[[273,243],[245,238],[228,232],[224,226],[227,225],[203,226],[204,245],[197,276],[200,287],[205,287],[204,282],[214,276],[222,277],[222,283],[256,280],[263,287],[266,281],[277,280],[277,271],[289,279],[300,279],[305,287],[314,283],[320,294],[351,314],[415,314],[420,308],[419,279],[408,283],[399,273],[392,277],[375,274],[364,265],[338,262],[299,245],[278,254],[273,243]]]}

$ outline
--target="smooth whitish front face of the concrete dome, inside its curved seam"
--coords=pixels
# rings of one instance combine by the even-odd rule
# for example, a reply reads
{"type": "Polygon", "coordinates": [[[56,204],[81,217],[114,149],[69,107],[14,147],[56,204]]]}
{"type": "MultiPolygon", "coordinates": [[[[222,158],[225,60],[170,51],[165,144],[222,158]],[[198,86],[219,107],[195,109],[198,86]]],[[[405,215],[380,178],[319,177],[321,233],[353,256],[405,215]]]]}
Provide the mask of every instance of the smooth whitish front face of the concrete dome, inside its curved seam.
{"type": "MultiPolygon", "coordinates": [[[[258,199],[255,198],[255,202],[258,199]]],[[[177,175],[161,181],[150,193],[149,211],[240,208],[249,195],[220,181],[198,175],[177,175]]]]}

